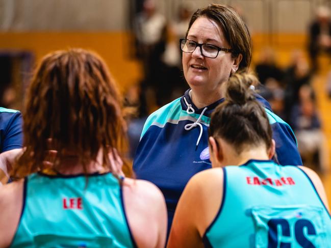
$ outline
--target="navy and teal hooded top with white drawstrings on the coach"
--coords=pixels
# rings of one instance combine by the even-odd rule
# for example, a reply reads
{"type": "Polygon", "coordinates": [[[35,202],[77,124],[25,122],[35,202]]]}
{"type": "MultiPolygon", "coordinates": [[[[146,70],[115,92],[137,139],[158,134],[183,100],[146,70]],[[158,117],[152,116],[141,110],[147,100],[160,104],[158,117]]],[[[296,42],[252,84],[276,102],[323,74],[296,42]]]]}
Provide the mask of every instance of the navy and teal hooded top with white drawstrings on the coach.
{"type": "MultiPolygon", "coordinates": [[[[168,231],[189,179],[211,168],[208,127],[214,109],[224,101],[220,99],[207,108],[198,109],[189,91],[147,118],[133,163],[138,179],[156,184],[163,192],[168,209],[168,231]],[[194,124],[196,122],[198,124],[194,124]]],[[[264,98],[256,97],[265,106],[279,163],[302,165],[291,127],[271,111],[264,98]]]]}

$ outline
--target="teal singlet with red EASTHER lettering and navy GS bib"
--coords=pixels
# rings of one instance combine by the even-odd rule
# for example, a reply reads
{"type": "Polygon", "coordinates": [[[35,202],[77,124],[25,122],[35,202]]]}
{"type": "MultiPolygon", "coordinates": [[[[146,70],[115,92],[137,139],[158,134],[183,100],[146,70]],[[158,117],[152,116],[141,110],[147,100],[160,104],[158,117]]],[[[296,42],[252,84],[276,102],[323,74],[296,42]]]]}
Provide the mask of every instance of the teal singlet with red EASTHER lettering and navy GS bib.
{"type": "Polygon", "coordinates": [[[249,160],[223,172],[222,204],[205,246],[331,247],[331,217],[300,168],[249,160]]]}

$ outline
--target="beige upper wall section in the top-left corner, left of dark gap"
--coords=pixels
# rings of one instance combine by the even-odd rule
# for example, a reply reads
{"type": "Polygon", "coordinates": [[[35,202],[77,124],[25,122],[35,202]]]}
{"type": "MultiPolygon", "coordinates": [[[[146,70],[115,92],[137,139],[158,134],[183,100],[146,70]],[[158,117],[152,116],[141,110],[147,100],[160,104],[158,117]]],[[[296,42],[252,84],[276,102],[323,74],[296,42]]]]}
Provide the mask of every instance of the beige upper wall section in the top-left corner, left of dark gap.
{"type": "Polygon", "coordinates": [[[122,31],[126,0],[0,0],[3,31],[122,31]]]}

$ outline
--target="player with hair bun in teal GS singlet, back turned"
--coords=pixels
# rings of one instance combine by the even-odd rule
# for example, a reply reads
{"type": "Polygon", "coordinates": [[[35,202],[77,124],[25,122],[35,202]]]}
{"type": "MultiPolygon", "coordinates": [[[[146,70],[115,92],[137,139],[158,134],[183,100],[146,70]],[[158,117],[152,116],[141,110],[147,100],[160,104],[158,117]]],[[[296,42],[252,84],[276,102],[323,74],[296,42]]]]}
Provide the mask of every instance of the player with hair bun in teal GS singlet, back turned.
{"type": "Polygon", "coordinates": [[[213,169],[196,174],[176,208],[168,247],[329,247],[331,217],[323,185],[305,167],[270,160],[269,118],[234,74],[209,128],[213,169]]]}

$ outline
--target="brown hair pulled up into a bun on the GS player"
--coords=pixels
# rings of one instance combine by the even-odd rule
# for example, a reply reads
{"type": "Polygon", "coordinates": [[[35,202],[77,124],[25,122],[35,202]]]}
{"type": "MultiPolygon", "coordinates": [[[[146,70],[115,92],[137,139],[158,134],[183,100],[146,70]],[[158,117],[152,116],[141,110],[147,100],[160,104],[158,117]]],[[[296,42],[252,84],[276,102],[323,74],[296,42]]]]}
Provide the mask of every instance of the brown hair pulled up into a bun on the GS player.
{"type": "Polygon", "coordinates": [[[249,88],[257,78],[251,74],[233,74],[227,81],[225,101],[212,114],[209,135],[221,137],[240,154],[245,146],[272,145],[272,130],[265,109],[249,88]]]}

